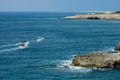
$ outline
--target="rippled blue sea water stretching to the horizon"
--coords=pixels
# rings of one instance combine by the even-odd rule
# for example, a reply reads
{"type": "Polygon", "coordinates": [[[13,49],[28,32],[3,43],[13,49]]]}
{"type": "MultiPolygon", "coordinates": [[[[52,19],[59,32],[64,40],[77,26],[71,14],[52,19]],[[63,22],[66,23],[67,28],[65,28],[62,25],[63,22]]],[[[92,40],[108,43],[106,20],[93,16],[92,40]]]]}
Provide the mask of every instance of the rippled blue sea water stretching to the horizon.
{"type": "Polygon", "coordinates": [[[69,66],[74,55],[112,51],[120,42],[120,21],[63,19],[75,14],[1,12],[0,80],[119,80],[119,69],[69,66]],[[29,47],[19,49],[21,41],[29,47]]]}

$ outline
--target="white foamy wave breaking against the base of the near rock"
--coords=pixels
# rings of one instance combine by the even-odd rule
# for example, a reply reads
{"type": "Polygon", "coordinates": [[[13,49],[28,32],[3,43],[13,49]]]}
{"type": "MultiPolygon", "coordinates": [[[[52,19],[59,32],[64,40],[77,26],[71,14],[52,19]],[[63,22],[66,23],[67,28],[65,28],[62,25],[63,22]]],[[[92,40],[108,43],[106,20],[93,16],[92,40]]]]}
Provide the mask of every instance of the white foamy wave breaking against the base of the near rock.
{"type": "MultiPolygon", "coordinates": [[[[57,69],[64,70],[64,71],[70,71],[70,72],[79,72],[79,73],[90,73],[93,71],[108,71],[111,70],[109,68],[84,68],[84,67],[77,67],[77,66],[71,66],[72,60],[62,60],[60,63],[56,66],[57,69]]],[[[58,63],[58,61],[57,61],[58,63]]]]}

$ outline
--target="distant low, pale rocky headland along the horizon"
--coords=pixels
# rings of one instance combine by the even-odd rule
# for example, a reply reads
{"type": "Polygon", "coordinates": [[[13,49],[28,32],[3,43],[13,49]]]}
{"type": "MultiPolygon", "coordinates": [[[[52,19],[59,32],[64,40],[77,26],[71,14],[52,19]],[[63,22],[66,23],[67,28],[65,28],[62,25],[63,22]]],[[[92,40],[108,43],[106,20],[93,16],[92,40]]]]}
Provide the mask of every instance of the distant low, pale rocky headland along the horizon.
{"type": "Polygon", "coordinates": [[[77,14],[74,16],[67,16],[65,19],[120,20],[120,13],[77,14]]]}

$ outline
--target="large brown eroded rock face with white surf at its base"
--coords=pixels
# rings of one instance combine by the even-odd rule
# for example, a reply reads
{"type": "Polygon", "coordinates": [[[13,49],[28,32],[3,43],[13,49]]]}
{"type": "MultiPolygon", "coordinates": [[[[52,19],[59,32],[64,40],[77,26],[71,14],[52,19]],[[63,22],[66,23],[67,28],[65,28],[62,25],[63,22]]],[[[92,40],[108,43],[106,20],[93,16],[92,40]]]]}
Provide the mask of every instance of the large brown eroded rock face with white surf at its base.
{"type": "Polygon", "coordinates": [[[72,66],[86,68],[120,68],[120,53],[92,52],[74,57],[72,66]]]}

